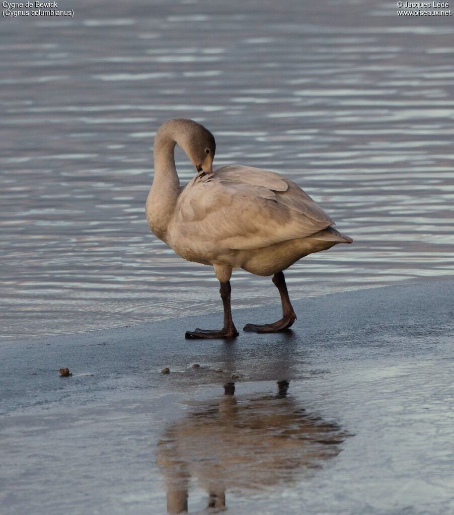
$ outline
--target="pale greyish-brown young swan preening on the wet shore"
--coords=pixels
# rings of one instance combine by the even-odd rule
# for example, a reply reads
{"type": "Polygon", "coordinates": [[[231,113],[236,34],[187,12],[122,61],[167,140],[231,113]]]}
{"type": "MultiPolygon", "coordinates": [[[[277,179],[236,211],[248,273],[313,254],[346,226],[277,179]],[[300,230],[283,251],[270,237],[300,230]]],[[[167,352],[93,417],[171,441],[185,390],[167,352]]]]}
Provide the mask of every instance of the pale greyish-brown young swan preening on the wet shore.
{"type": "Polygon", "coordinates": [[[213,169],[214,136],[190,119],[165,122],[154,138],[154,178],[146,202],[151,231],[188,261],[212,265],[224,308],[221,330],[196,329],[186,338],[238,336],[230,306],[232,270],[273,276],[283,316],[268,324],[248,323],[243,331],[274,333],[296,320],[283,270],[313,252],[353,239],[293,181],[252,166],[213,169]],[[180,186],[174,149],[178,144],[197,175],[180,186]]]}

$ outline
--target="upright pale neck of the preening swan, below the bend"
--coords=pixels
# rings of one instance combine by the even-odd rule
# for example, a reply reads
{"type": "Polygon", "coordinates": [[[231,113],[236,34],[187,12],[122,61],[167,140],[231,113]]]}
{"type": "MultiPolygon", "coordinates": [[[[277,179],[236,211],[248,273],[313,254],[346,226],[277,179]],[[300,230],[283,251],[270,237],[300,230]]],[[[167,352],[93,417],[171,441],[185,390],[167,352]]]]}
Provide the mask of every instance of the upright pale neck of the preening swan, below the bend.
{"type": "Polygon", "coordinates": [[[158,131],[154,139],[154,179],[146,203],[147,221],[153,233],[167,243],[167,227],[180,195],[175,167],[176,141],[168,131],[158,131]]]}

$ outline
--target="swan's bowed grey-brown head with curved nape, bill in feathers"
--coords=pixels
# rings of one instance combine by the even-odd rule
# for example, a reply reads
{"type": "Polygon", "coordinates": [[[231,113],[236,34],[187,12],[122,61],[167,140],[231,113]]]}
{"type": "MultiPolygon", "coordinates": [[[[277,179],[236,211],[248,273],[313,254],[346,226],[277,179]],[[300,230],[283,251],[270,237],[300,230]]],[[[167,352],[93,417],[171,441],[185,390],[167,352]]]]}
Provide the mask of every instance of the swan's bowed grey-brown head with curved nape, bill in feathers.
{"type": "Polygon", "coordinates": [[[177,142],[199,173],[206,175],[213,172],[216,143],[213,134],[203,125],[194,120],[177,118],[163,124],[159,133],[166,133],[177,142]]]}

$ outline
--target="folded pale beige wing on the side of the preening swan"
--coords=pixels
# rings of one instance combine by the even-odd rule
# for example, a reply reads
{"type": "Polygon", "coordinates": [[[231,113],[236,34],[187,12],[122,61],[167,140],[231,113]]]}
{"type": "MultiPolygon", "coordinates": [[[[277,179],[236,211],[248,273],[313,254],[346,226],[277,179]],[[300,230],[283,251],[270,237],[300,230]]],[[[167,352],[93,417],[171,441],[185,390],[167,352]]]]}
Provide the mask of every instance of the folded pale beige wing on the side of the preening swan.
{"type": "Polygon", "coordinates": [[[219,249],[255,249],[309,236],[333,225],[294,182],[271,171],[223,166],[196,176],[181,193],[173,227],[219,249]]]}

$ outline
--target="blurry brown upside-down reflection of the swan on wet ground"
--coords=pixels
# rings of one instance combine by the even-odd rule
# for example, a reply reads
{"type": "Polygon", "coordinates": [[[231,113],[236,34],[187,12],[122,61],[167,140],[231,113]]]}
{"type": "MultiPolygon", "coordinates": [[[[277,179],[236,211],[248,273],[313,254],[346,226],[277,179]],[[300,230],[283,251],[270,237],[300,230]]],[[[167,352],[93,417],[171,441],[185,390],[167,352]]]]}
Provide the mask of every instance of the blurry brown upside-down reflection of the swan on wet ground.
{"type": "Polygon", "coordinates": [[[199,404],[174,423],[158,443],[167,511],[187,511],[190,478],[208,492],[208,507],[225,506],[225,491],[251,493],[296,479],[341,452],[348,436],[338,425],[307,414],[286,397],[236,399],[233,383],[220,400],[199,404]]]}

